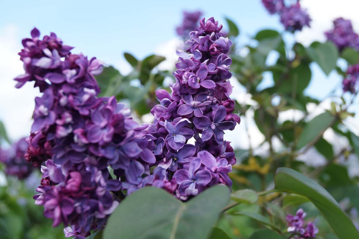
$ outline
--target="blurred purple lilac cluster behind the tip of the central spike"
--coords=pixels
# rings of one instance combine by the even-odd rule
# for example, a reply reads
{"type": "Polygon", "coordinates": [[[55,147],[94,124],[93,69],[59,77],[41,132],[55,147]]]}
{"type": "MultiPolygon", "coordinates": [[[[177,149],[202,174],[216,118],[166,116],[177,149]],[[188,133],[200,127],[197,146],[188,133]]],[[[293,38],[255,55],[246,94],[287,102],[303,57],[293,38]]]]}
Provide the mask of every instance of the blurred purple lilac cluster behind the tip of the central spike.
{"type": "Polygon", "coordinates": [[[177,35],[187,38],[190,32],[197,29],[202,14],[201,11],[183,11],[182,24],[176,28],[177,35]]]}

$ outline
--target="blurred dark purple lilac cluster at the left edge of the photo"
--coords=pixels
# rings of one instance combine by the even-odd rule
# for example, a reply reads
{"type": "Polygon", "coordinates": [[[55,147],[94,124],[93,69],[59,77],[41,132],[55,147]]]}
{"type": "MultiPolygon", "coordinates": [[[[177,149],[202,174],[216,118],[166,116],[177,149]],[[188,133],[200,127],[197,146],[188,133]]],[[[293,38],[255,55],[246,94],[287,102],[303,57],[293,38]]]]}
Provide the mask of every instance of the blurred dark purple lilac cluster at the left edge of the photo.
{"type": "Polygon", "coordinates": [[[24,159],[27,146],[25,139],[20,139],[9,149],[0,148],[0,162],[5,165],[6,174],[16,176],[19,179],[24,179],[31,174],[34,166],[24,159]]]}

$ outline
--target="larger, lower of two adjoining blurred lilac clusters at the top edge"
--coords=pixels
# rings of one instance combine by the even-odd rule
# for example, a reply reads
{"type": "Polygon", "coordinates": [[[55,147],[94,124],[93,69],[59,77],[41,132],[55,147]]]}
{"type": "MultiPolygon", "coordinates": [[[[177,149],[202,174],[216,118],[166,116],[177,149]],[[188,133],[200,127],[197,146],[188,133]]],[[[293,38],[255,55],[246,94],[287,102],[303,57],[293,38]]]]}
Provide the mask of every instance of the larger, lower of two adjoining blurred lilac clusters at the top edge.
{"type": "Polygon", "coordinates": [[[302,28],[304,26],[309,27],[309,22],[311,22],[311,18],[309,17],[306,10],[300,8],[300,4],[298,2],[296,4],[293,4],[289,8],[282,9],[280,22],[288,31],[302,31],[302,28]]]}

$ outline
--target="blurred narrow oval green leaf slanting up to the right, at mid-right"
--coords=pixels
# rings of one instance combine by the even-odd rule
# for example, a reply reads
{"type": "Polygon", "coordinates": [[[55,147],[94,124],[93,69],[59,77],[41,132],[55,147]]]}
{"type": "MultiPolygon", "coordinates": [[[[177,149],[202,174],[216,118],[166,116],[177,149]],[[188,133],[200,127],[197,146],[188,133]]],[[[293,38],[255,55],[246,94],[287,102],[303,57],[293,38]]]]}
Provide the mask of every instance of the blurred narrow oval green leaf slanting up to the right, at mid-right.
{"type": "Polygon", "coordinates": [[[306,146],[312,140],[317,139],[317,137],[320,137],[324,131],[332,125],[334,120],[335,117],[326,111],[309,121],[299,135],[297,150],[306,146]]]}

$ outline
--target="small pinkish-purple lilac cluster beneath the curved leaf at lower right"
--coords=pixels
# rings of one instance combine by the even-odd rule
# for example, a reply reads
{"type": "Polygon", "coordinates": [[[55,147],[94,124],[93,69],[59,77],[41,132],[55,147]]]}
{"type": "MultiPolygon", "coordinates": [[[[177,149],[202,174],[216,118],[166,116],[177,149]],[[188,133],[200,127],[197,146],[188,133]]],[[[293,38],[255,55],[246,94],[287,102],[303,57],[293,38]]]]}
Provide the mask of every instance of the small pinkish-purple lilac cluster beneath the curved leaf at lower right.
{"type": "Polygon", "coordinates": [[[304,217],[306,217],[306,215],[306,212],[300,208],[294,216],[290,214],[286,216],[289,226],[288,232],[299,234],[295,235],[292,239],[315,238],[318,233],[318,228],[313,224],[313,222],[308,222],[307,224],[304,222],[304,217]]]}

